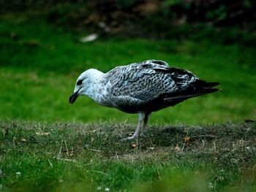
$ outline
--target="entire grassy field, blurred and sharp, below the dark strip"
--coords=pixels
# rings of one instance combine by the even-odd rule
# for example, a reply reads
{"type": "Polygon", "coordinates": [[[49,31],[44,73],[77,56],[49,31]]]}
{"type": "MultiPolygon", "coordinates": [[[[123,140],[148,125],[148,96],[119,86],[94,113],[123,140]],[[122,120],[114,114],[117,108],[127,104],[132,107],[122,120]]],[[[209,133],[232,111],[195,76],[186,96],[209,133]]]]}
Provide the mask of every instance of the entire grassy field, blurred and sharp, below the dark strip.
{"type": "Polygon", "coordinates": [[[99,38],[42,18],[0,16],[0,191],[255,191],[255,47],[99,38]],[[137,115],[89,98],[86,69],[167,61],[222,91],[155,112],[147,138],[120,142],[137,115]],[[232,122],[232,123],[226,123],[232,122]]]}

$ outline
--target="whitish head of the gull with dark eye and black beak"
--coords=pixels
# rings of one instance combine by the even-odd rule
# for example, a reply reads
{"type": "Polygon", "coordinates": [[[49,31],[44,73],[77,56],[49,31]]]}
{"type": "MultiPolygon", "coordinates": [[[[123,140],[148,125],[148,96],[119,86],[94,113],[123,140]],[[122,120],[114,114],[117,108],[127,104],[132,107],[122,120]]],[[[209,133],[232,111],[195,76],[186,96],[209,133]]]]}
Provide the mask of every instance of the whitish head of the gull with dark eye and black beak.
{"type": "Polygon", "coordinates": [[[94,84],[97,83],[99,77],[102,75],[97,69],[88,69],[78,77],[75,82],[74,93],[69,97],[69,104],[73,104],[78,96],[90,96],[94,94],[94,84]]]}

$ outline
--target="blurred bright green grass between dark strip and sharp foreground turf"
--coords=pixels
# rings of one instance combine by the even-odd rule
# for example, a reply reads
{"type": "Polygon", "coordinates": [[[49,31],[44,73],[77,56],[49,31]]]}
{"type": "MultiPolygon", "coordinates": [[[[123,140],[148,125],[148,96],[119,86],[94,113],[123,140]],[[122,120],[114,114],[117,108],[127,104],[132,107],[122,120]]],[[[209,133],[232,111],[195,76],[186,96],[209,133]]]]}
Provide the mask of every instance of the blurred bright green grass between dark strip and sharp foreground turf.
{"type": "Polygon", "coordinates": [[[255,118],[255,48],[218,45],[209,40],[176,42],[149,39],[97,39],[83,44],[85,34],[49,26],[42,18],[5,15],[0,20],[0,118],[47,122],[129,120],[115,109],[86,97],[69,106],[75,80],[86,69],[107,72],[114,66],[150,58],[167,61],[222,91],[156,112],[151,122],[213,123],[255,118]]]}

